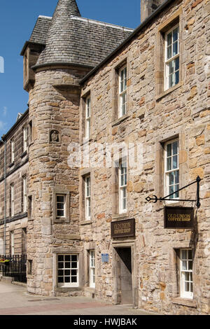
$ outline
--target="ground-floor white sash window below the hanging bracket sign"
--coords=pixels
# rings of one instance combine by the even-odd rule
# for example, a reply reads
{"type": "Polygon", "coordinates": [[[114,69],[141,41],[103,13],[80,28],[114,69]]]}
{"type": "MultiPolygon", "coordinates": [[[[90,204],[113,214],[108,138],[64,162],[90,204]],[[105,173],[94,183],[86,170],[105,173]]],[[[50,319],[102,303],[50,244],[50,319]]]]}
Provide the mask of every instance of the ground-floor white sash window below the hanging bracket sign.
{"type": "Polygon", "coordinates": [[[180,250],[181,294],[183,298],[193,298],[193,251],[180,250]]]}

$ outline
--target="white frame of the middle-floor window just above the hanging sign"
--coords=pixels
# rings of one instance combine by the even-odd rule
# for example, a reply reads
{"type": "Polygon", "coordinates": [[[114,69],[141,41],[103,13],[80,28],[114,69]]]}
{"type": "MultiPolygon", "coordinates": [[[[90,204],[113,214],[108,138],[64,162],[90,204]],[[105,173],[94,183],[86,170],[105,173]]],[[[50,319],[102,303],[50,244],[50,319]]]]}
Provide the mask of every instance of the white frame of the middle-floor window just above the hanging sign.
{"type": "MultiPolygon", "coordinates": [[[[173,151],[173,147],[172,147],[172,151],[173,151]]],[[[171,140],[171,141],[167,141],[167,142],[165,143],[165,175],[164,175],[164,176],[165,176],[165,178],[164,178],[164,180],[165,180],[165,195],[169,195],[169,194],[170,194],[170,192],[169,192],[169,174],[172,173],[172,172],[179,172],[179,183],[174,182],[174,184],[173,184],[173,186],[179,186],[179,184],[180,184],[180,171],[179,171],[179,139],[173,139],[173,140],[171,140]],[[168,146],[169,144],[172,144],[172,146],[173,146],[173,143],[175,143],[175,142],[178,143],[178,146],[177,146],[177,151],[178,151],[178,153],[177,153],[177,154],[174,154],[174,156],[177,155],[177,166],[178,166],[178,167],[177,167],[177,168],[174,168],[174,169],[167,170],[167,158],[171,158],[171,159],[173,160],[173,155],[171,155],[170,157],[167,157],[167,146],[168,146]]],[[[171,185],[172,185],[172,184],[171,184],[171,185]]],[[[174,189],[174,192],[175,192],[175,190],[179,190],[179,188],[175,188],[175,189],[174,189]]],[[[175,194],[172,195],[172,196],[169,197],[169,198],[179,200],[179,196],[178,196],[178,197],[175,197],[175,194]]]]}

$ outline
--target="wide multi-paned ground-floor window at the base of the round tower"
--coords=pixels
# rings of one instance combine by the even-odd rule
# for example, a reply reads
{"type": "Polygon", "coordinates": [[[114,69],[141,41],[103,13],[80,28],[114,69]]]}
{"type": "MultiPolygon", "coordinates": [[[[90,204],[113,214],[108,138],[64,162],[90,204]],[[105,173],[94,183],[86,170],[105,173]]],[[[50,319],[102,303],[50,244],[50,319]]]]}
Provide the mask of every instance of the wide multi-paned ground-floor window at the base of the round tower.
{"type": "Polygon", "coordinates": [[[57,285],[78,286],[78,255],[57,255],[57,285]]]}

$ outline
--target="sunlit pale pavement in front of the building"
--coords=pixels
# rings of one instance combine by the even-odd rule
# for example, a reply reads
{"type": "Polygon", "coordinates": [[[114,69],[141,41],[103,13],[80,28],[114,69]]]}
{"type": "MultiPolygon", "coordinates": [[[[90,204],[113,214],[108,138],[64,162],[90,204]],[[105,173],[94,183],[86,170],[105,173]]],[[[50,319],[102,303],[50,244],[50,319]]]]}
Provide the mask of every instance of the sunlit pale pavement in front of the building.
{"type": "Polygon", "coordinates": [[[0,281],[1,315],[157,315],[131,304],[113,305],[88,297],[43,297],[27,293],[26,286],[0,281]]]}

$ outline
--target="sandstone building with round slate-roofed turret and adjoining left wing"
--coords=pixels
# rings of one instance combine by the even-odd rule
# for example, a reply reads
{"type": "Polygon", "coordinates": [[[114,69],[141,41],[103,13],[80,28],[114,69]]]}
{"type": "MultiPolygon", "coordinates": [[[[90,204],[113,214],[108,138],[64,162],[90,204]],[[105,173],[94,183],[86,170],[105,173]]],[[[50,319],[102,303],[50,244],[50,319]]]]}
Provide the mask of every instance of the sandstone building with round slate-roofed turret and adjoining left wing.
{"type": "Polygon", "coordinates": [[[8,252],[17,226],[19,253],[27,223],[30,293],[210,313],[209,10],[142,0],[134,31],[76,0],[38,18],[21,53],[29,110],[1,141],[1,193],[18,186],[0,232],[8,252]],[[27,153],[3,165],[25,122],[27,153]]]}

